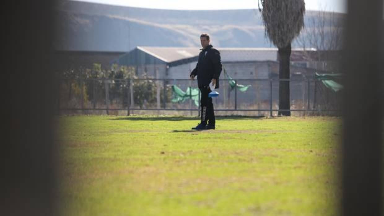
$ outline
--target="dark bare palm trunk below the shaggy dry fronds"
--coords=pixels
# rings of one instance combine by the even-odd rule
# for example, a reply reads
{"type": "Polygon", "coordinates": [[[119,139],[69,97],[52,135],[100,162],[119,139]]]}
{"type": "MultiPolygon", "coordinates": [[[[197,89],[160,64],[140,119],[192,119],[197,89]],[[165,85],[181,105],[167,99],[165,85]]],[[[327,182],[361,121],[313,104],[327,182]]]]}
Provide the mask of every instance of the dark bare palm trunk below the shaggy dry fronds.
{"type": "MultiPolygon", "coordinates": [[[[291,44],[288,46],[279,47],[279,79],[290,78],[290,56],[291,56],[291,44]]],[[[290,109],[290,82],[279,82],[279,109],[290,109]]],[[[290,116],[290,111],[279,111],[278,115],[290,116]]]]}

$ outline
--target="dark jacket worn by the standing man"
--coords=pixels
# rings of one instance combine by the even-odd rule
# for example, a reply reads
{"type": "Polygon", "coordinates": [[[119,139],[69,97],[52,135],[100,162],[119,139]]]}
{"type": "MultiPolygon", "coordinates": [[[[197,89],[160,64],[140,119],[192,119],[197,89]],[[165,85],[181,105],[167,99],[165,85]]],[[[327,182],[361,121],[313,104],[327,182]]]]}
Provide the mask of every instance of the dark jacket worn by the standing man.
{"type": "Polygon", "coordinates": [[[212,45],[201,49],[199,61],[196,68],[191,72],[190,76],[197,76],[197,85],[199,88],[209,86],[212,79],[216,79],[215,89],[218,89],[218,78],[222,70],[220,52],[212,48],[212,45]]]}

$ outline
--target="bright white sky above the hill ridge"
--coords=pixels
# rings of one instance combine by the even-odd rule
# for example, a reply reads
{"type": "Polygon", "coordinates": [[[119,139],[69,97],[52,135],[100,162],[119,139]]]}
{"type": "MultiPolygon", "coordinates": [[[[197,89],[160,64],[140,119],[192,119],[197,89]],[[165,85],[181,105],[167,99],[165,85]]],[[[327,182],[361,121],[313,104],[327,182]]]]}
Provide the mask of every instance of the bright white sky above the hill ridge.
{"type": "MultiPolygon", "coordinates": [[[[108,5],[171,10],[255,9],[258,0],[81,0],[108,5]]],[[[345,0],[305,0],[306,10],[346,13],[345,0]]]]}

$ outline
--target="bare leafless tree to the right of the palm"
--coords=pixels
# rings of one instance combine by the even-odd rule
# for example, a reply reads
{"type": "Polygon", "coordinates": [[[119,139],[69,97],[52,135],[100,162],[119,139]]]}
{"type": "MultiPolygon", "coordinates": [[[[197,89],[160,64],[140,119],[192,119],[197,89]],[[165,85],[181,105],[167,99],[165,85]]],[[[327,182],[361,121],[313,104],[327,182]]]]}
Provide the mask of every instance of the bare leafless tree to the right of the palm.
{"type": "MultiPolygon", "coordinates": [[[[339,73],[344,15],[327,12],[323,7],[320,11],[307,12],[307,16],[305,28],[295,41],[296,44],[304,48],[305,59],[311,68],[339,73]]],[[[338,94],[316,83],[314,88],[314,108],[323,104],[324,109],[338,109],[338,94]],[[316,101],[321,102],[317,104],[316,101]]]]}

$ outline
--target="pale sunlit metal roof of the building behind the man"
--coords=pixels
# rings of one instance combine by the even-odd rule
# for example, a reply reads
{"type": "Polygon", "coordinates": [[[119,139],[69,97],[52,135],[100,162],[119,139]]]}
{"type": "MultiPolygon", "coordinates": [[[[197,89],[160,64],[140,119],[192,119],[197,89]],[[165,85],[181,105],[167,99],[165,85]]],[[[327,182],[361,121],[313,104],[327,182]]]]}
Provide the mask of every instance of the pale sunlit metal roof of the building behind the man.
{"type": "MultiPolygon", "coordinates": [[[[156,47],[156,46],[138,46],[143,52],[146,52],[155,58],[167,63],[179,61],[181,59],[193,58],[199,55],[199,47],[156,47]]],[[[216,48],[220,51],[222,62],[234,61],[277,61],[277,48],[216,48]]],[[[300,51],[303,49],[292,49],[300,51]]]]}

